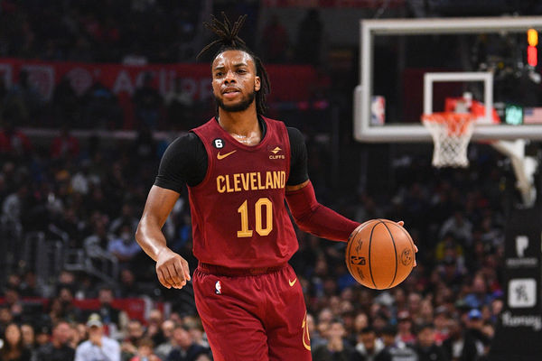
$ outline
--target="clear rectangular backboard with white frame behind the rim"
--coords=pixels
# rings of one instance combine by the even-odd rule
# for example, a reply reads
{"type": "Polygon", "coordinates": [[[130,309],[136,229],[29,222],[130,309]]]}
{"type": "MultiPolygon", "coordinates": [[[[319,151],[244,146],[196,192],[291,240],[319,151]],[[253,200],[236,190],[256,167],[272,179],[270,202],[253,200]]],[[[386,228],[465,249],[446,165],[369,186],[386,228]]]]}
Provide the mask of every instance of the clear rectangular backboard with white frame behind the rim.
{"type": "Polygon", "coordinates": [[[537,38],[529,29],[542,30],[542,16],[360,21],[355,138],[431,142],[422,114],[468,92],[485,106],[473,140],[542,139],[540,68],[528,64],[537,60],[537,38]]]}

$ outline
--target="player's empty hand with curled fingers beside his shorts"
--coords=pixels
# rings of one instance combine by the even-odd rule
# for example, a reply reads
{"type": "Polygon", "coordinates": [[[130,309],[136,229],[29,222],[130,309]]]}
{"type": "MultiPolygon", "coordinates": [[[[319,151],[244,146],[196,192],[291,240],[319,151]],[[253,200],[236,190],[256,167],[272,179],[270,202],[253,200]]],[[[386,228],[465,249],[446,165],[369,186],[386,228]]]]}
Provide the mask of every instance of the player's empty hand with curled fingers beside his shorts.
{"type": "Polygon", "coordinates": [[[164,248],[156,259],[156,275],[165,288],[178,288],[190,281],[188,262],[169,248],[164,248]]]}

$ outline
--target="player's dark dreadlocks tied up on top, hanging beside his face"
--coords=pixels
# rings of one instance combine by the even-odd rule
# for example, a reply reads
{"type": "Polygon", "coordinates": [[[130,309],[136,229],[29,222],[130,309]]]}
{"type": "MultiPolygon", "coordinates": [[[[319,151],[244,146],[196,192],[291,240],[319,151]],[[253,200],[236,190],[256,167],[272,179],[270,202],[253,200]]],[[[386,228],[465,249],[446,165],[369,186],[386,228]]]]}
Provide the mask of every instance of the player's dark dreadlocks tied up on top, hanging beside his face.
{"type": "Polygon", "coordinates": [[[217,51],[212,57],[213,60],[224,51],[244,51],[248,53],[252,60],[254,60],[254,64],[256,65],[256,75],[260,78],[260,89],[256,92],[256,110],[258,114],[266,114],[266,96],[271,90],[271,83],[269,82],[266,68],[264,68],[262,60],[260,60],[254,52],[248,49],[245,41],[238,36],[239,30],[247,19],[247,14],[239,16],[238,21],[233,23],[233,25],[229,22],[229,19],[224,12],[221,14],[224,18],[223,22],[220,22],[220,20],[214,15],[210,15],[210,23],[203,23],[207,29],[217,34],[219,39],[210,42],[207,46],[205,46],[200,51],[196,59],[199,59],[202,54],[209,51],[215,45],[220,45],[220,48],[219,51],[217,51]]]}

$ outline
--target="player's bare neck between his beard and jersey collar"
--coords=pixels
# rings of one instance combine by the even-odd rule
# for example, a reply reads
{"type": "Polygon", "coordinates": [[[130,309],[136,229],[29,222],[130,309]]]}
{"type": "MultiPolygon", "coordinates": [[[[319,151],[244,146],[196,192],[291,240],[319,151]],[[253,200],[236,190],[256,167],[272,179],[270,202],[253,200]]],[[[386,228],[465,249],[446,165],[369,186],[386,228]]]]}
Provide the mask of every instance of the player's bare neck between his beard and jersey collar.
{"type": "Polygon", "coordinates": [[[239,143],[256,145],[262,139],[255,106],[241,112],[227,112],[219,108],[219,125],[239,143]]]}

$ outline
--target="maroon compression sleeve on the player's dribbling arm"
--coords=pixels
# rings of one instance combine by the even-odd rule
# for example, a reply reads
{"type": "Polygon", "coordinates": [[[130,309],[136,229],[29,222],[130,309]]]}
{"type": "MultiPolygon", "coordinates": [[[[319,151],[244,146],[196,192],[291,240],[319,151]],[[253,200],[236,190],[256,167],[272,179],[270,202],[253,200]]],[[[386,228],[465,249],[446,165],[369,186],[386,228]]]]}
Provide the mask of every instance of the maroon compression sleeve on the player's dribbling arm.
{"type": "MultiPolygon", "coordinates": [[[[295,223],[305,232],[315,236],[346,242],[351,232],[360,223],[342,217],[316,200],[310,180],[295,190],[286,188],[286,201],[292,211],[295,223]]],[[[294,186],[296,187],[296,186],[294,186]]]]}

